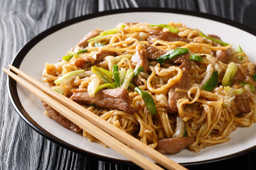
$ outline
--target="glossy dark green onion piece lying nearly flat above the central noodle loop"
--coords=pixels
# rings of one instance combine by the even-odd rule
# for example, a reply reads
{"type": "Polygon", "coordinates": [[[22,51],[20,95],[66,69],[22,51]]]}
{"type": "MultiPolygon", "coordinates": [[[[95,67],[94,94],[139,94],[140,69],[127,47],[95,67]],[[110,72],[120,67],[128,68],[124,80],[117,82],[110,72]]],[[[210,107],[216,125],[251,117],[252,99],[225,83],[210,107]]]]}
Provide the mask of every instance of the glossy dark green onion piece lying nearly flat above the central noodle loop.
{"type": "Polygon", "coordinates": [[[178,55],[184,55],[188,53],[187,48],[176,48],[174,50],[171,50],[171,52],[166,53],[165,55],[161,55],[160,57],[156,58],[156,62],[160,62],[160,64],[164,64],[166,60],[171,60],[174,57],[177,57],[178,55]]]}

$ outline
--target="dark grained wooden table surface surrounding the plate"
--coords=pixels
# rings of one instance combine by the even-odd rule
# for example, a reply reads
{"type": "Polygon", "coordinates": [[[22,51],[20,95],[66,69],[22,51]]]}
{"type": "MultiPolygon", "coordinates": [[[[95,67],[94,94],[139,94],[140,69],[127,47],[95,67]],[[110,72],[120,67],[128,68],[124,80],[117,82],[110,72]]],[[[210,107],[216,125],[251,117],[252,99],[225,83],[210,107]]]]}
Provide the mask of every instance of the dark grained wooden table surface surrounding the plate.
{"type": "MultiPolygon", "coordinates": [[[[28,40],[58,23],[98,11],[141,7],[200,11],[256,28],[255,0],[0,0],[0,66],[6,67],[28,40]]],[[[42,137],[11,105],[4,72],[0,80],[0,169],[140,169],[76,154],[42,137]]],[[[256,169],[255,160],[256,152],[250,152],[220,162],[186,167],[256,169]]]]}

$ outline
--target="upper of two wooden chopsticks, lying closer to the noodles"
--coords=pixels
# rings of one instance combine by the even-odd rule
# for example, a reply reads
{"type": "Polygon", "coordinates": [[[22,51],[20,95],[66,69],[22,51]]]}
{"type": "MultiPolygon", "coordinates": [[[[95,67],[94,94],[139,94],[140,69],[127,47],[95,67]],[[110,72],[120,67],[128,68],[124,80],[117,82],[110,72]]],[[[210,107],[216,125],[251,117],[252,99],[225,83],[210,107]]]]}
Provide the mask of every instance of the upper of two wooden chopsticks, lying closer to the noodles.
{"type": "MultiPolygon", "coordinates": [[[[105,130],[105,132],[116,137],[121,142],[124,142],[129,147],[137,149],[137,151],[141,152],[146,157],[149,157],[150,159],[154,160],[158,164],[161,164],[161,166],[164,166],[166,169],[186,169],[185,167],[181,166],[180,164],[177,164],[176,162],[172,161],[168,157],[164,156],[164,154],[157,152],[155,149],[152,149],[151,147],[145,145],[143,142],[137,140],[135,137],[132,137],[132,135],[127,134],[127,132],[124,132],[124,131],[120,130],[119,128],[115,127],[114,125],[107,123],[107,121],[98,117],[94,113],[88,111],[86,108],[83,108],[78,103],[71,101],[69,98],[59,94],[56,91],[53,91],[52,89],[50,89],[50,87],[45,86],[44,84],[37,81],[36,79],[33,79],[32,77],[28,76],[28,74],[21,72],[21,70],[17,69],[16,67],[14,67],[10,64],[8,67],[10,69],[12,69],[14,72],[16,72],[17,74],[19,74],[21,77],[23,77],[24,79],[29,81],[31,84],[38,87],[38,89],[41,89],[46,94],[48,94],[49,96],[54,98],[56,101],[59,101],[64,106],[67,106],[68,108],[70,108],[70,110],[74,111],[75,113],[78,113],[78,115],[80,115],[82,118],[85,118],[90,123],[96,125],[97,127],[101,128],[102,130],[105,130]]],[[[74,123],[76,123],[76,122],[74,122],[74,123]]]]}

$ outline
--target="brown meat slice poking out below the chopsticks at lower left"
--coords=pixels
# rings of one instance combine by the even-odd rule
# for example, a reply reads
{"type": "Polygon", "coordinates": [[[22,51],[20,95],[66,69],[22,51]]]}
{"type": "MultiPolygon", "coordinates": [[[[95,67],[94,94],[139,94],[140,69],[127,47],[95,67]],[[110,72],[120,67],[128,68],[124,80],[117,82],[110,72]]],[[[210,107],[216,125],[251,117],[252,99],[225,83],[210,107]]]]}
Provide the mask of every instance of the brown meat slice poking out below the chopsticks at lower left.
{"type": "Polygon", "coordinates": [[[65,118],[63,115],[58,113],[58,111],[55,111],[53,108],[48,106],[48,104],[43,103],[44,108],[46,108],[47,115],[53,119],[58,124],[62,125],[64,128],[70,129],[73,132],[80,132],[81,128],[79,128],[78,125],[75,125],[75,123],[71,122],[67,118],[65,118]]]}

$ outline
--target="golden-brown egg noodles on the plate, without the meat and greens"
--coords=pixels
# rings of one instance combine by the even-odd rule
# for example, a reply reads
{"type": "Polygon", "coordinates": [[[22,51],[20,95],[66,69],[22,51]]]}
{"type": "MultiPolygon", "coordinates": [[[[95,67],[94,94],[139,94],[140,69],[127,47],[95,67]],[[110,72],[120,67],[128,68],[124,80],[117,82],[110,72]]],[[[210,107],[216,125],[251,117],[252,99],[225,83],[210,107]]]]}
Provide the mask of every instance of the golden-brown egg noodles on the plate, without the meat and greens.
{"type": "MultiPolygon", "coordinates": [[[[191,151],[200,152],[202,148],[228,142],[230,140],[228,135],[238,126],[250,127],[255,122],[256,96],[254,89],[256,83],[252,79],[255,74],[255,64],[249,61],[242,50],[236,51],[231,47],[232,45],[217,45],[217,42],[199,35],[201,31],[198,29],[187,28],[182,23],[169,23],[168,25],[178,28],[176,34],[181,38],[186,38],[188,42],[166,41],[154,37],[149,41],[150,30],[169,31],[168,28],[151,26],[149,23],[119,23],[116,33],[102,35],[95,40],[88,41],[86,52],[79,53],[83,48],[77,46],[68,53],[71,54],[70,60],[60,60],[55,64],[46,63],[42,80],[48,83],[52,89],[60,91],[61,94],[70,98],[74,89],[87,89],[89,92],[90,84],[95,86],[92,89],[104,84],[91,72],[92,66],[113,72],[113,67],[117,64],[121,74],[122,68],[127,72],[128,69],[134,70],[137,67],[131,60],[132,56],[137,51],[143,50],[145,45],[151,45],[166,52],[177,48],[186,48],[189,50],[189,54],[196,54],[202,58],[201,61],[189,60],[191,67],[188,72],[191,80],[189,89],[177,86],[174,88],[174,85],[183,76],[183,69],[174,62],[160,64],[156,60],[149,60],[148,70],[140,72],[131,81],[132,84],[139,86],[140,89],[151,95],[157,114],[149,113],[142,95],[135,92],[134,87],[131,86],[127,90],[131,98],[131,105],[134,108],[140,106],[137,112],[125,113],[117,109],[86,104],[82,104],[82,106],[152,148],[157,147],[159,140],[174,136],[178,116],[186,125],[185,135],[195,139],[188,146],[191,151]],[[96,45],[97,43],[100,45],[96,45]],[[232,57],[227,63],[221,62],[215,57],[217,50],[230,50],[232,57]],[[97,52],[102,51],[110,52],[110,54],[112,52],[115,55],[108,55],[104,60],[95,62],[97,52]],[[85,62],[82,67],[77,67],[75,62],[82,58],[90,59],[90,61],[85,62]],[[245,79],[242,79],[244,84],[232,83],[229,86],[223,86],[223,77],[231,62],[238,67],[238,72],[245,73],[245,79]],[[65,82],[60,82],[58,85],[55,83],[65,74],[80,69],[85,72],[75,75],[65,82]],[[203,90],[203,85],[209,81],[213,71],[218,72],[216,86],[210,91],[203,90]],[[91,82],[94,80],[99,83],[92,84],[91,82]],[[177,113],[169,112],[169,90],[172,88],[177,93],[186,93],[186,97],[179,98],[176,103],[177,113]],[[244,113],[240,111],[239,103],[236,103],[238,96],[243,94],[249,96],[247,101],[250,101],[246,103],[250,109],[244,113]]],[[[83,136],[91,142],[101,143],[86,130],[82,130],[82,132],[83,136]]]]}

